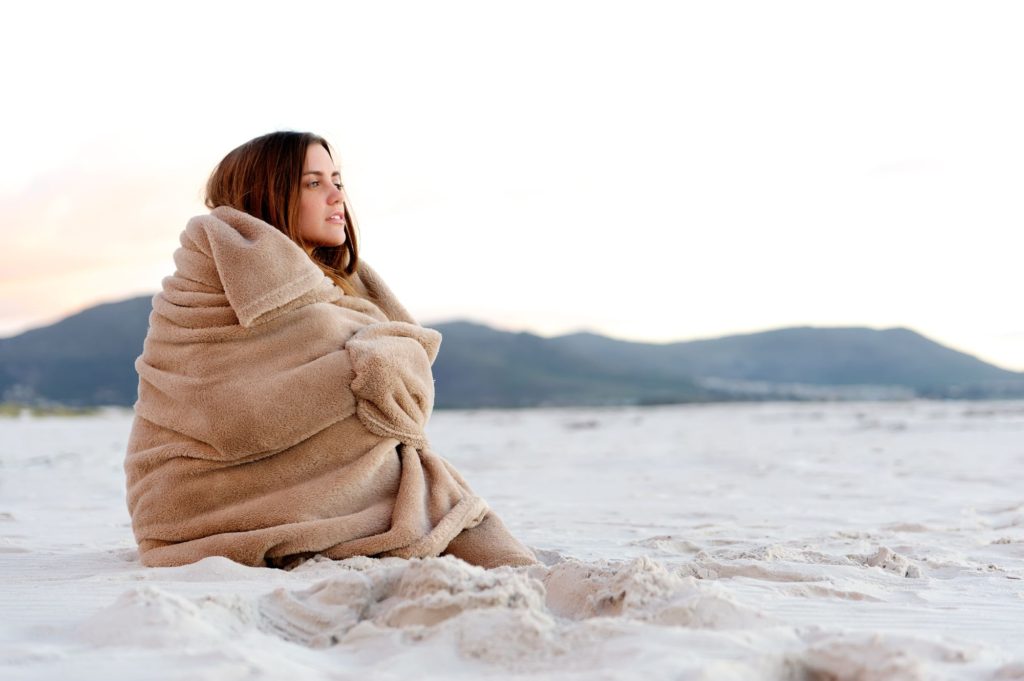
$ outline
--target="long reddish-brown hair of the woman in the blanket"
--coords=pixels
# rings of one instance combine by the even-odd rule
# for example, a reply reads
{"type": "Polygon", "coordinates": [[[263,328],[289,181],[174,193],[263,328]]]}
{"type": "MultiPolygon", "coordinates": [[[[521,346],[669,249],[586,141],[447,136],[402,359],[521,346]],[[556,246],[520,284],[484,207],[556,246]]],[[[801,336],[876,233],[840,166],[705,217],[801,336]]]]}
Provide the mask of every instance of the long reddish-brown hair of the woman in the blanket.
{"type": "Polygon", "coordinates": [[[359,249],[348,198],[344,201],[344,244],[311,247],[298,233],[302,167],[310,144],[321,144],[334,159],[327,140],[311,132],[271,132],[236,147],[210,174],[206,206],[230,206],[273,225],[308,253],[345,293],[355,295],[350,280],[359,266],[359,249]]]}

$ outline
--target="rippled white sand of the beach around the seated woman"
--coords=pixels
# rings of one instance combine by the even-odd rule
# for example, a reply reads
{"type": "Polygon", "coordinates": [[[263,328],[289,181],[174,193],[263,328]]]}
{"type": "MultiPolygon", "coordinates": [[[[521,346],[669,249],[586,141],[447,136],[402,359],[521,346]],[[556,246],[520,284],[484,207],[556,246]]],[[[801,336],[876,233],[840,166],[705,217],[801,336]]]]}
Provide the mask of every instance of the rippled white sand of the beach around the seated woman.
{"type": "Polygon", "coordinates": [[[143,568],[129,425],[0,420],[0,679],[1024,679],[1024,402],[437,413],[492,571],[143,568]]]}

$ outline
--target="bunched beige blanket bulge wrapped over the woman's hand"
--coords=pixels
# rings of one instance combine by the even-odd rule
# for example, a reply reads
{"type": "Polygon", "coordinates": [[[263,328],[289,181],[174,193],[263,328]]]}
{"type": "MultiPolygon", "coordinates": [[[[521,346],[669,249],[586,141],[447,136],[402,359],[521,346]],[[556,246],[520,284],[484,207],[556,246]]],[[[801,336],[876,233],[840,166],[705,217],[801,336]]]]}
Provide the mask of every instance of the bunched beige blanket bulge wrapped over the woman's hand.
{"type": "Polygon", "coordinates": [[[426,444],[423,428],[434,407],[430,366],[440,342],[433,329],[406,322],[372,324],[348,340],[356,414],[371,432],[426,444]]]}

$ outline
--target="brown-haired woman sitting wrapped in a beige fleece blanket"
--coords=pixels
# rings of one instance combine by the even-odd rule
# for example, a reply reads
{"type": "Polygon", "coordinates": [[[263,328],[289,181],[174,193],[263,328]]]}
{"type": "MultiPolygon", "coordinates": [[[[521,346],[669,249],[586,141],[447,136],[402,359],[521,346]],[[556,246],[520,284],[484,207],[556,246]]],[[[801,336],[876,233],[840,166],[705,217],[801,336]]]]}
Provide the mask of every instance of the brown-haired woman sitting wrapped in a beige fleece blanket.
{"type": "Polygon", "coordinates": [[[206,203],[135,363],[125,470],[142,562],[536,562],[430,450],[440,335],[359,259],[327,141],[246,142],[214,170],[206,203]]]}

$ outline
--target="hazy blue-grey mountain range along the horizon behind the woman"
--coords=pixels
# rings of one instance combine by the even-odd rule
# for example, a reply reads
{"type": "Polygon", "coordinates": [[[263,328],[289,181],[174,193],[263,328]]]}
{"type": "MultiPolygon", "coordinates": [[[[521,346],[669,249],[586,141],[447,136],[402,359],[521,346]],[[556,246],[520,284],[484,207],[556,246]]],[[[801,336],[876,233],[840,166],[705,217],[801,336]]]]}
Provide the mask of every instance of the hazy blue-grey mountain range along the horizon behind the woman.
{"type": "MultiPolygon", "coordinates": [[[[0,396],[132,405],[150,310],[151,297],[132,298],[0,339],[0,396]]],[[[591,333],[544,338],[462,321],[429,326],[443,335],[438,408],[1024,396],[1024,374],[908,329],[801,327],[655,344],[591,333]]]]}

